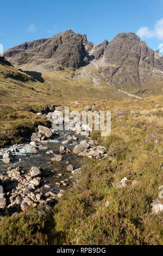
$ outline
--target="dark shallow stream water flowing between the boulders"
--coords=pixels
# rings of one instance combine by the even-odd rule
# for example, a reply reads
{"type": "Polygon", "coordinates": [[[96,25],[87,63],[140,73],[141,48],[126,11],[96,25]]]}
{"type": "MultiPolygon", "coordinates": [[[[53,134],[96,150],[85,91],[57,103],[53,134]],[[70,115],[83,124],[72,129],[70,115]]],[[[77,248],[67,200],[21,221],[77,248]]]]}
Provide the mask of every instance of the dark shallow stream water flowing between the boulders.
{"type": "MultiPolygon", "coordinates": [[[[62,155],[62,161],[60,162],[51,162],[52,157],[60,155],[59,148],[61,142],[65,140],[65,135],[74,135],[73,132],[64,132],[64,134],[60,133],[58,137],[54,137],[51,141],[46,141],[41,144],[43,147],[47,147],[48,149],[39,150],[39,154],[27,154],[26,156],[16,156],[15,162],[12,164],[4,164],[0,162],[0,172],[7,171],[8,167],[17,167],[20,166],[23,170],[30,170],[32,166],[40,167],[43,170],[47,171],[49,175],[47,175],[46,182],[48,185],[55,186],[56,182],[65,181],[67,186],[72,186],[73,178],[71,172],[67,172],[66,170],[66,162],[68,161],[70,164],[74,166],[74,168],[80,168],[83,166],[84,159],[83,157],[78,157],[73,153],[68,153],[62,155]],[[53,150],[54,154],[46,154],[48,150],[53,150]],[[20,159],[21,161],[18,161],[20,159]],[[61,174],[60,176],[58,174],[61,174]]],[[[79,138],[78,141],[73,141],[72,144],[64,144],[64,146],[71,151],[74,146],[78,144],[82,139],[85,139],[85,136],[76,135],[79,138]]],[[[60,189],[65,189],[65,187],[61,184],[60,189]]]]}

